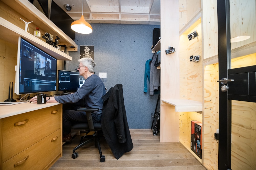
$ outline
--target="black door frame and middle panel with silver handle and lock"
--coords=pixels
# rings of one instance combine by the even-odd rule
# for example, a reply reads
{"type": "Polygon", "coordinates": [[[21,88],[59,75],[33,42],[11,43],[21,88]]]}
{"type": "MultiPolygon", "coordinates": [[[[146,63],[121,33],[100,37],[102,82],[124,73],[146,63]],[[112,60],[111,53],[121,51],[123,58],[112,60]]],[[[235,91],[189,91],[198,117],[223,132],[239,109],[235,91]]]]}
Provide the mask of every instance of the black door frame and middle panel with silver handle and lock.
{"type": "MultiPolygon", "coordinates": [[[[248,1],[239,1],[239,2],[247,3],[248,1]]],[[[253,4],[253,1],[251,2],[253,4]]],[[[235,12],[230,13],[230,10],[232,11],[232,9],[230,8],[234,8],[234,4],[230,6],[230,3],[233,3],[233,2],[230,2],[229,0],[217,0],[219,79],[220,79],[219,81],[219,154],[218,154],[219,169],[231,169],[231,164],[232,165],[236,164],[235,162],[232,162],[233,160],[236,160],[236,159],[232,158],[231,153],[234,153],[233,150],[239,150],[239,148],[235,148],[239,146],[232,146],[233,141],[231,142],[232,123],[233,123],[232,122],[232,110],[233,110],[232,100],[233,102],[237,102],[237,101],[256,102],[256,83],[255,83],[256,82],[255,81],[256,66],[255,65],[247,66],[246,64],[241,64],[241,66],[239,66],[238,68],[231,67],[231,63],[232,63],[231,59],[239,57],[239,56],[232,56],[234,54],[233,51],[238,51],[237,49],[241,48],[241,51],[244,53],[237,52],[236,55],[239,54],[240,56],[242,56],[242,55],[255,53],[256,50],[254,50],[254,52],[250,52],[249,48],[251,47],[250,46],[246,47],[245,45],[239,48],[235,47],[232,49],[231,38],[233,37],[231,37],[231,35],[232,35],[232,31],[234,31],[233,28],[235,27],[232,22],[230,24],[230,19],[233,21],[234,19],[232,17],[236,16],[236,14],[235,12]],[[247,48],[248,50],[246,50],[247,48]]],[[[254,4],[255,4],[255,1],[254,1],[254,4]]],[[[243,5],[243,4],[240,3],[236,5],[243,5]]],[[[254,8],[255,8],[255,5],[254,5],[254,8]]],[[[242,10],[245,10],[245,9],[242,9],[242,10]]],[[[249,10],[249,9],[246,9],[246,10],[249,10]]],[[[239,13],[241,11],[236,11],[236,12],[239,13]]],[[[254,17],[255,12],[251,12],[251,15],[254,17]]],[[[240,16],[240,17],[243,17],[243,16],[240,16]]],[[[243,23],[241,22],[240,24],[243,24],[243,23]]],[[[252,24],[252,26],[254,25],[252,24]]],[[[237,25],[237,27],[239,27],[239,25],[237,25]]],[[[249,42],[250,44],[252,41],[247,40],[247,42],[249,42]]],[[[251,43],[251,44],[254,44],[254,43],[251,43]]],[[[241,112],[241,114],[243,113],[241,112]]],[[[253,145],[252,145],[252,149],[253,149],[253,145]]],[[[248,148],[248,152],[250,152],[249,148],[248,148]]],[[[250,155],[248,157],[250,157],[250,155]]],[[[252,155],[252,157],[255,157],[255,155],[252,155]]],[[[252,160],[255,160],[255,158],[252,158],[252,160]]],[[[249,162],[250,158],[248,158],[247,161],[249,162]]],[[[252,162],[252,163],[250,162],[248,163],[248,162],[241,161],[241,162],[238,162],[238,164],[241,164],[241,165],[255,164],[255,162],[252,162]]],[[[255,168],[255,166],[252,168],[255,168]]]]}

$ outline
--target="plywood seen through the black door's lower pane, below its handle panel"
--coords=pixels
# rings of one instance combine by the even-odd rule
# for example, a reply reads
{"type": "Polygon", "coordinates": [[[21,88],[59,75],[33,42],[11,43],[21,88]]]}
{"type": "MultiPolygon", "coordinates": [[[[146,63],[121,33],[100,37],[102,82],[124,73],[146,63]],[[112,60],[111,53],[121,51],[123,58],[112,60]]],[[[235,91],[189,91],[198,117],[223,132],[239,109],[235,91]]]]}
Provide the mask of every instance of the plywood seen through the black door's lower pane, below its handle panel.
{"type": "Polygon", "coordinates": [[[256,167],[256,103],[232,100],[231,167],[256,167]]]}

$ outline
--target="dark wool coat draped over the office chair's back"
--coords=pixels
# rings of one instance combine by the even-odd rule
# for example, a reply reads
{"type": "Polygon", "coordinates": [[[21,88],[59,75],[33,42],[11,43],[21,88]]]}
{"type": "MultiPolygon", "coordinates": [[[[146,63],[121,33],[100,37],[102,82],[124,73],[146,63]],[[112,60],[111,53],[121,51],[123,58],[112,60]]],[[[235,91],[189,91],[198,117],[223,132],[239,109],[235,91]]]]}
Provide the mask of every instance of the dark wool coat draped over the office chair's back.
{"type": "Polygon", "coordinates": [[[119,159],[133,148],[124,106],[123,85],[111,87],[102,99],[102,131],[113,155],[119,159]]]}

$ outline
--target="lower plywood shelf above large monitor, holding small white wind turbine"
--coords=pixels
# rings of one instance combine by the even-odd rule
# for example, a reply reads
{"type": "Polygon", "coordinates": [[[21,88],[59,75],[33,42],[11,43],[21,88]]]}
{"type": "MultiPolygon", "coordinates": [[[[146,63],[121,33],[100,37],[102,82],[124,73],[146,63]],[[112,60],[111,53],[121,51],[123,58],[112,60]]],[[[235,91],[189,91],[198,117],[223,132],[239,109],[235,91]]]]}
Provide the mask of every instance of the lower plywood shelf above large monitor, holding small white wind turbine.
{"type": "Polygon", "coordinates": [[[0,17],[0,36],[1,39],[8,41],[13,44],[18,44],[18,37],[21,36],[28,42],[32,43],[36,47],[42,49],[52,57],[56,58],[57,60],[72,60],[72,57],[69,55],[61,52],[57,48],[54,48],[50,44],[40,40],[39,38],[35,37],[34,35],[24,31],[23,29],[17,27],[16,25],[10,23],[9,21],[0,17]]]}

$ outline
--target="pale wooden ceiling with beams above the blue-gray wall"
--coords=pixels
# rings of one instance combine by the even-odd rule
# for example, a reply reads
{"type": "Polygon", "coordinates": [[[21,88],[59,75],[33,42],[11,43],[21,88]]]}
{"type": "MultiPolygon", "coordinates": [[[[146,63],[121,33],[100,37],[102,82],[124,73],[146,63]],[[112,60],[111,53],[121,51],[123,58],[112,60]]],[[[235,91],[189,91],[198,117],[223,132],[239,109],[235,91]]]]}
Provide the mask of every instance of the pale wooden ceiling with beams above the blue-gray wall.
{"type": "Polygon", "coordinates": [[[160,25],[160,0],[53,0],[71,18],[89,23],[160,25]],[[82,8],[83,3],[83,8],[82,8]],[[67,11],[64,7],[72,7],[67,11]],[[83,12],[82,12],[83,10],[83,12]]]}

